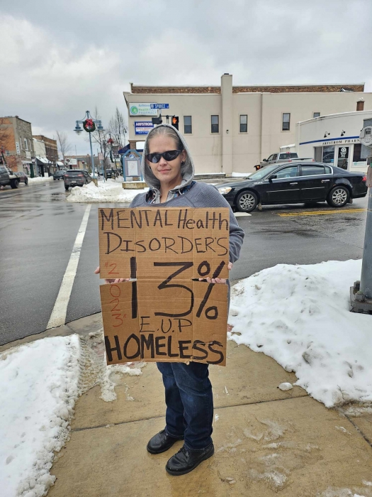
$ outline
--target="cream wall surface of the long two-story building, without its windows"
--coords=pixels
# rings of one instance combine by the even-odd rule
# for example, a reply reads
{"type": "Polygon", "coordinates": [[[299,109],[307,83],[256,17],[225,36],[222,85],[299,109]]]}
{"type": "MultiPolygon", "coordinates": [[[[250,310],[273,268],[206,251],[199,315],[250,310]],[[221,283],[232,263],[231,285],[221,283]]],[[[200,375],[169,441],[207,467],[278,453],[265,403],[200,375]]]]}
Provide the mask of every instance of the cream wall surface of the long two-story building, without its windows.
{"type": "MultiPolygon", "coordinates": [[[[229,80],[229,84],[225,86],[230,87],[231,75],[223,77],[229,80]]],[[[230,89],[228,91],[230,92],[230,89]]],[[[192,116],[193,132],[186,134],[185,139],[198,173],[220,173],[222,170],[227,173],[231,170],[252,171],[254,165],[271,153],[279,151],[281,146],[295,143],[295,124],[298,121],[311,119],[313,112],[320,112],[321,116],[325,116],[325,114],[355,111],[356,102],[361,97],[365,101],[365,109],[372,109],[372,94],[363,92],[232,94],[230,112],[225,105],[224,123],[221,94],[130,94],[125,92],[125,98],[129,103],[169,104],[169,109],[164,109],[162,115],[179,116],[181,133],[184,133],[184,116],[192,116]],[[290,131],[281,130],[283,112],[291,114],[290,131]],[[212,114],[220,116],[220,133],[218,134],[210,132],[212,114]],[[247,133],[239,133],[240,114],[248,116],[247,133]],[[228,135],[226,124],[229,126],[228,135]],[[225,157],[222,153],[222,141],[225,143],[225,157]],[[225,166],[224,169],[222,165],[225,166]]],[[[135,121],[151,121],[151,116],[128,116],[129,139],[143,141],[144,136],[135,135],[135,121]]],[[[325,130],[323,135],[324,133],[325,130]]],[[[308,152],[304,153],[308,155],[308,152]]],[[[309,156],[312,155],[311,153],[309,156]]]]}

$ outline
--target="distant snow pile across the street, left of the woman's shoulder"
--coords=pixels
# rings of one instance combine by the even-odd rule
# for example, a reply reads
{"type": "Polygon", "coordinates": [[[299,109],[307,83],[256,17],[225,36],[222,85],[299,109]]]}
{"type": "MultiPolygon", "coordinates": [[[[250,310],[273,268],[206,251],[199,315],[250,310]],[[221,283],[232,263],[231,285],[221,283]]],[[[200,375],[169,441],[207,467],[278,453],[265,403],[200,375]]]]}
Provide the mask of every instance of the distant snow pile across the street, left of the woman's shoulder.
{"type": "Polygon", "coordinates": [[[141,190],[124,190],[120,180],[108,179],[107,182],[94,182],[82,187],[73,187],[67,202],[132,202],[139,193],[147,192],[148,188],[141,190]]]}

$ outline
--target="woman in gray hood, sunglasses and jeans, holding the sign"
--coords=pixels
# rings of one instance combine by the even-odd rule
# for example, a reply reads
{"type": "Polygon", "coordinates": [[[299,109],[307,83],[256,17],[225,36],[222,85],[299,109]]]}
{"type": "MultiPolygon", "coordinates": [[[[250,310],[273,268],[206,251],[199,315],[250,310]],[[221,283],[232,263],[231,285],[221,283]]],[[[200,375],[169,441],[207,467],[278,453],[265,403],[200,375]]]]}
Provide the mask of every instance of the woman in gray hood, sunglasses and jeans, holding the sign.
{"type": "MultiPolygon", "coordinates": [[[[162,124],[147,135],[142,155],[142,172],[149,185],[147,193],[135,197],[130,207],[229,207],[212,185],[193,180],[194,166],[183,136],[173,126],[162,124]]],[[[244,231],[239,228],[230,209],[230,263],[239,258],[244,231]]],[[[96,273],[99,272],[97,268],[96,273]]],[[[206,278],[208,283],[228,284],[223,278],[206,278]]],[[[120,283],[124,279],[106,280],[120,283]]],[[[147,451],[160,454],[177,442],[184,446],[167,462],[169,474],[186,474],[213,456],[211,438],[213,422],[212,385],[208,364],[157,363],[163,376],[167,404],[166,427],[154,435],[147,451]]]]}

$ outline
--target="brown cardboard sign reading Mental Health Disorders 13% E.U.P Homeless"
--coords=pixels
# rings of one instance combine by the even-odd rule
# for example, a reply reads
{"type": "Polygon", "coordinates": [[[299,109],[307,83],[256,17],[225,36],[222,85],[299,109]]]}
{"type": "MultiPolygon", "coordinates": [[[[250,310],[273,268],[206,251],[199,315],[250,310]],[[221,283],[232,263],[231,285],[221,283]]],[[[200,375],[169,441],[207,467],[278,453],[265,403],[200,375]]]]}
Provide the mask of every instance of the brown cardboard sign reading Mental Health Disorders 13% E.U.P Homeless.
{"type": "Polygon", "coordinates": [[[226,364],[228,208],[98,209],[108,364],[226,364]]]}

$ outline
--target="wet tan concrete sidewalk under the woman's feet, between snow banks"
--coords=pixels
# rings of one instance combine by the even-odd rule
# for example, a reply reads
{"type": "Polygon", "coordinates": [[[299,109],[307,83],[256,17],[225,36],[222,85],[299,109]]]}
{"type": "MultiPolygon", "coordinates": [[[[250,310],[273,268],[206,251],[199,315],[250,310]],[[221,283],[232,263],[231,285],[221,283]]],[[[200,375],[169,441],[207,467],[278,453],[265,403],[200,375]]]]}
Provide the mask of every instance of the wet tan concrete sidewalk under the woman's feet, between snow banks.
{"type": "MultiPolygon", "coordinates": [[[[46,333],[86,335],[100,327],[94,315],[46,333]]],[[[156,365],[147,364],[142,376],[113,376],[117,400],[101,400],[99,386],[78,400],[48,496],[372,497],[372,410],[327,409],[300,387],[279,390],[295,374],[264,354],[229,342],[227,367],[210,367],[215,456],[179,477],[164,466],[181,442],[157,456],[146,451],[164,427],[156,365]]]]}

